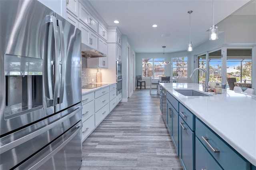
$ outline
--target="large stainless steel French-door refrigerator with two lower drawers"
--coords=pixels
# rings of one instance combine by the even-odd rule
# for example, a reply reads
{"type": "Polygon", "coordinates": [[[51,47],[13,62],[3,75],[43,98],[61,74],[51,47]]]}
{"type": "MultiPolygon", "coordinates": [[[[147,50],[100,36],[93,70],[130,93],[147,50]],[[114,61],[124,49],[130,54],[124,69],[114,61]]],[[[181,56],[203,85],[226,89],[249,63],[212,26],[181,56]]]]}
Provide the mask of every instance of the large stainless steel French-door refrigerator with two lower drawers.
{"type": "Polygon", "coordinates": [[[79,169],[81,32],[36,0],[0,11],[0,169],[79,169]]]}

